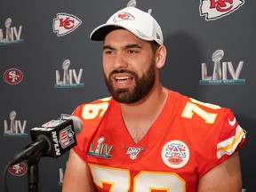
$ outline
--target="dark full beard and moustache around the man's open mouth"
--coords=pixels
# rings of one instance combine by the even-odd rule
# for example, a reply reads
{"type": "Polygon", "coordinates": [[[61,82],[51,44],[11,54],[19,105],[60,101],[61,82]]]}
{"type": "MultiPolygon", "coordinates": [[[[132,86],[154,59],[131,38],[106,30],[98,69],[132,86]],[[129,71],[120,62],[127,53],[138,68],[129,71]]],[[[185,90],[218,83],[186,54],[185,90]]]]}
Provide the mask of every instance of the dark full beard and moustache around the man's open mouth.
{"type": "Polygon", "coordinates": [[[148,69],[145,73],[143,73],[141,77],[139,77],[136,73],[132,71],[120,69],[112,71],[108,77],[106,76],[106,74],[104,74],[104,78],[105,83],[108,86],[108,92],[111,93],[114,100],[125,104],[135,103],[146,97],[146,95],[148,95],[148,92],[151,91],[152,87],[155,84],[155,60],[151,60],[148,69]],[[135,80],[135,84],[129,88],[115,89],[113,84],[114,80],[113,78],[111,78],[111,76],[116,73],[131,74],[135,80]]]}

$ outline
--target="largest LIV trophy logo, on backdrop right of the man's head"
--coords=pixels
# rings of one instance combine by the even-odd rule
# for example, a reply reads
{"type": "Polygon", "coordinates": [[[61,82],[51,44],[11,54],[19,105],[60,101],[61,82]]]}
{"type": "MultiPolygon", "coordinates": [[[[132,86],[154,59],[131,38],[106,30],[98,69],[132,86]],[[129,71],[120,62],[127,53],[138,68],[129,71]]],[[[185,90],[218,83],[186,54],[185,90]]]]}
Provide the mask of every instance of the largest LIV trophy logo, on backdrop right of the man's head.
{"type": "Polygon", "coordinates": [[[223,50],[212,53],[212,76],[208,76],[207,64],[202,63],[202,80],[199,81],[199,84],[245,84],[245,79],[239,79],[244,61],[239,61],[235,70],[231,61],[220,62],[223,57],[223,50]],[[231,79],[228,79],[228,72],[231,79]]]}

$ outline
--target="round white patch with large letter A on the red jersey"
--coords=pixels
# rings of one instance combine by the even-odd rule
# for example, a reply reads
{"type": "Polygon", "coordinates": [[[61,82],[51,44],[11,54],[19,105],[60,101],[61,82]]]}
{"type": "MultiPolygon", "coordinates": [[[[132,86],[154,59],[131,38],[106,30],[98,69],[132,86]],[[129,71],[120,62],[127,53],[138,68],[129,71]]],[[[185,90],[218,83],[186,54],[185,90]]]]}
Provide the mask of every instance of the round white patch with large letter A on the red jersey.
{"type": "Polygon", "coordinates": [[[188,163],[188,146],[180,140],[171,140],[162,149],[162,159],[167,166],[178,169],[188,163]]]}

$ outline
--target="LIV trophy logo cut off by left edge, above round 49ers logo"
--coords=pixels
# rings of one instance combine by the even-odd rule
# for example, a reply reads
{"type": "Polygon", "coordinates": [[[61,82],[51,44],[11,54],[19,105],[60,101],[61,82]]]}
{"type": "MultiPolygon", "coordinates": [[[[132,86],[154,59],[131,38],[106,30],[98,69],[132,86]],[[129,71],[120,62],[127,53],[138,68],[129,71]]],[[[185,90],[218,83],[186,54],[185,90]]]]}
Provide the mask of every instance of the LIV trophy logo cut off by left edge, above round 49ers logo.
{"type": "Polygon", "coordinates": [[[16,27],[11,27],[11,25],[12,19],[8,18],[4,23],[5,29],[0,28],[0,45],[19,44],[24,42],[24,40],[20,38],[22,26],[17,29],[16,27]]]}

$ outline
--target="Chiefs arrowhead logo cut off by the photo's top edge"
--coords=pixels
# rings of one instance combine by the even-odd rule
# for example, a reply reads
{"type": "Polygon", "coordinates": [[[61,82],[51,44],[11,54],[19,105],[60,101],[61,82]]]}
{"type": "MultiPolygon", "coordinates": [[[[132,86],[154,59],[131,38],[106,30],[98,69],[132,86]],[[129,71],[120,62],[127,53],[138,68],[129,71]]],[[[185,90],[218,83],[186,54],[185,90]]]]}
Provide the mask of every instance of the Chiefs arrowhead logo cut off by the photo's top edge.
{"type": "Polygon", "coordinates": [[[205,20],[217,20],[235,12],[244,4],[244,0],[201,0],[200,15],[205,20]]]}

